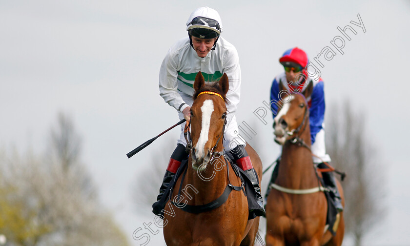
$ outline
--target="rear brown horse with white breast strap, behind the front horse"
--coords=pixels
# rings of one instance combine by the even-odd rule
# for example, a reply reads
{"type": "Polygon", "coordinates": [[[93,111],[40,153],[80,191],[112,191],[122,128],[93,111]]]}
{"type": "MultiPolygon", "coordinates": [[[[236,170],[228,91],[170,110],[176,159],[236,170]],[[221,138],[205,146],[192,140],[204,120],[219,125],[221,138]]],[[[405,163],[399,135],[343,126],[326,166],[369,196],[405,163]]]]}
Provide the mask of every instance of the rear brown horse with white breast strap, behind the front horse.
{"type": "MultiPolygon", "coordinates": [[[[278,177],[266,201],[266,246],[340,246],[343,241],[343,212],[333,227],[338,226],[335,236],[325,229],[328,204],[310,151],[306,98],[312,87],[310,83],[304,94],[284,98],[275,118],[275,141],[283,149],[278,177]]],[[[337,186],[344,205],[339,182],[337,186]]]]}

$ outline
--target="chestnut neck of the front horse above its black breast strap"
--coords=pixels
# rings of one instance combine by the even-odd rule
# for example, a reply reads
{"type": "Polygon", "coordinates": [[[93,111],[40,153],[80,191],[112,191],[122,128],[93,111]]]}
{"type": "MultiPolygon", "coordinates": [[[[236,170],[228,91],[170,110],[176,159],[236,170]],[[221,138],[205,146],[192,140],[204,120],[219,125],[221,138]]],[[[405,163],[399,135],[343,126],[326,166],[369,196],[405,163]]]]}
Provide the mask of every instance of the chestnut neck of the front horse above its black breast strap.
{"type": "MultiPolygon", "coordinates": [[[[193,194],[193,199],[188,204],[202,205],[212,202],[225,190],[227,182],[227,170],[222,156],[208,163],[205,170],[199,172],[192,168],[189,159],[185,182],[195,187],[198,193],[193,194]]],[[[233,172],[233,171],[232,171],[233,172]]]]}

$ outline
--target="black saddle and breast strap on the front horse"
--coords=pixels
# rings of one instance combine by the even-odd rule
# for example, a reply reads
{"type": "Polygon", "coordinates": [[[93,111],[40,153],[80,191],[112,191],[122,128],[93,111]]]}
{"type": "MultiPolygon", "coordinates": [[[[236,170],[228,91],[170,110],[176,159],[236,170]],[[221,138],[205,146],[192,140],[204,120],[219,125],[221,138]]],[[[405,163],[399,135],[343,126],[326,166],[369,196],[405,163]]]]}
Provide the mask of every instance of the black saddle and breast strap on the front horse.
{"type": "MultiPolygon", "coordinates": [[[[253,185],[249,179],[249,177],[246,175],[246,173],[239,168],[233,161],[233,158],[231,156],[229,156],[230,153],[225,153],[225,164],[228,165],[230,164],[232,166],[232,169],[234,170],[235,174],[237,177],[239,177],[242,181],[242,185],[241,186],[234,186],[232,184],[230,184],[229,182],[229,168],[228,166],[226,166],[227,170],[228,170],[228,185],[225,188],[225,191],[223,192],[223,194],[217,198],[216,200],[205,204],[205,205],[184,205],[184,204],[178,204],[175,203],[174,201],[170,201],[170,203],[172,205],[175,205],[175,207],[180,208],[182,210],[184,210],[185,212],[189,212],[189,213],[202,213],[202,212],[206,212],[206,211],[210,211],[213,210],[221,205],[223,205],[226,200],[229,197],[229,194],[232,190],[236,190],[236,191],[243,191],[244,195],[246,196],[247,202],[248,202],[248,210],[249,210],[249,214],[248,214],[248,220],[254,219],[256,218],[256,214],[254,213],[254,211],[256,209],[258,209],[258,204],[256,203],[257,199],[256,199],[256,192],[255,189],[253,188],[253,185]]],[[[184,159],[181,162],[181,166],[178,168],[176,174],[174,175],[174,177],[172,178],[171,182],[169,183],[168,187],[166,188],[164,195],[162,196],[161,200],[155,202],[152,205],[152,212],[155,215],[162,215],[161,218],[164,218],[164,208],[166,203],[168,202],[170,197],[173,197],[173,191],[175,191],[175,184],[178,180],[178,178],[183,175],[182,180],[181,180],[181,185],[178,188],[178,195],[181,194],[181,189],[182,189],[182,184],[184,181],[184,176],[186,173],[188,167],[188,159],[184,159]],[[160,211],[160,212],[156,212],[156,211],[160,211]]]]}

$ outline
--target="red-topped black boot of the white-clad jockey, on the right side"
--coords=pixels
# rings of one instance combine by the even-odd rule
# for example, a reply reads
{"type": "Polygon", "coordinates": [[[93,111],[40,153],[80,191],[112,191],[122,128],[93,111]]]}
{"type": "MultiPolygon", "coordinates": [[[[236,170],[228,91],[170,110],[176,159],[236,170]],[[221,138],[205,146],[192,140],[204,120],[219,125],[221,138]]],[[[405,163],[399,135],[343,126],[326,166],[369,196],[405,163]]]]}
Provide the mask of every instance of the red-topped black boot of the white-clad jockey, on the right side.
{"type": "Polygon", "coordinates": [[[247,154],[245,147],[243,145],[238,145],[234,149],[231,149],[230,153],[233,155],[236,164],[246,172],[247,176],[252,182],[253,188],[255,189],[257,198],[256,202],[259,205],[259,208],[255,209],[256,211],[254,211],[255,215],[265,216],[264,200],[261,194],[261,186],[259,185],[258,176],[256,174],[255,169],[252,166],[252,162],[250,161],[249,155],[247,154]]]}

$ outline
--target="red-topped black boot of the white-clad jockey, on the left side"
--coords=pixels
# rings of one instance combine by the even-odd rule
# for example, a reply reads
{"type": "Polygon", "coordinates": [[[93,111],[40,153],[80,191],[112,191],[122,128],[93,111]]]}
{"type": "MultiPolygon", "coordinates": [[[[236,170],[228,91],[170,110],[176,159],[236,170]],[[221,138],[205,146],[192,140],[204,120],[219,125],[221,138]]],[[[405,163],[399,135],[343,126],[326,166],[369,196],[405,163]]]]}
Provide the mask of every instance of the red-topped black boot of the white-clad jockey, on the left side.
{"type": "Polygon", "coordinates": [[[178,144],[174,152],[169,159],[168,167],[166,168],[164,180],[160,187],[160,194],[157,196],[157,201],[160,201],[166,188],[171,182],[172,178],[175,176],[178,168],[181,165],[181,162],[188,156],[185,151],[185,147],[182,144],[178,144]]]}

